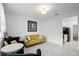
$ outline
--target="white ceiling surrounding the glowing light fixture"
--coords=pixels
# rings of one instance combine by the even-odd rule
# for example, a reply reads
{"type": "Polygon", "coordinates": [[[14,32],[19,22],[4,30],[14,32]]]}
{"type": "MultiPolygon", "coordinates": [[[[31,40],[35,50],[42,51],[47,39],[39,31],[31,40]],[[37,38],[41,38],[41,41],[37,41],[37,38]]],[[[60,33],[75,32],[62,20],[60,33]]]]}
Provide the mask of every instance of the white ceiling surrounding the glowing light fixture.
{"type": "Polygon", "coordinates": [[[45,3],[45,5],[49,5],[51,9],[47,12],[46,15],[41,15],[41,12],[38,10],[40,5],[43,5],[43,3],[3,4],[5,13],[42,19],[79,11],[79,3],[45,3]]]}

